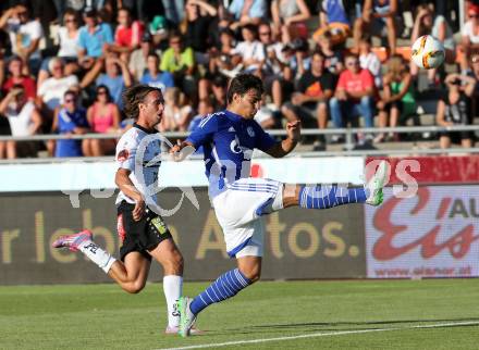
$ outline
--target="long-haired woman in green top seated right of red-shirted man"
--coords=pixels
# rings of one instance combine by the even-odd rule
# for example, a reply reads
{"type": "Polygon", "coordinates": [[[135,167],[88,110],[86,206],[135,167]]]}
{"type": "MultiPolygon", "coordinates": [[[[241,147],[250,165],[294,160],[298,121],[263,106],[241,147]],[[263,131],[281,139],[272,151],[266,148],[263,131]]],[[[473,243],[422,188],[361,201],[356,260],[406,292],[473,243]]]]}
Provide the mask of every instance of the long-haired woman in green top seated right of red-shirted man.
{"type": "MultiPolygon", "coordinates": [[[[381,99],[377,102],[379,110],[379,127],[398,125],[400,121],[416,113],[416,98],[412,74],[401,55],[393,55],[388,60],[388,71],[384,75],[384,88],[381,99]]],[[[381,133],[374,142],[382,142],[385,134],[381,133]]],[[[396,133],[390,133],[388,140],[398,141],[396,133]]]]}

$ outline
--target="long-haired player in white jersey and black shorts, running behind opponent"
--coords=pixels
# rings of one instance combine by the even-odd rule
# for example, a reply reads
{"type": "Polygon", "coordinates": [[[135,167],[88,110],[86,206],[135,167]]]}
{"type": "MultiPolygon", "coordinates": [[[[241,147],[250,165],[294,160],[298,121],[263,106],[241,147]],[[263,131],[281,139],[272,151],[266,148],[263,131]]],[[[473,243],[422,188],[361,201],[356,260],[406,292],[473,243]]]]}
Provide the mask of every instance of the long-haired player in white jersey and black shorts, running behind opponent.
{"type": "Polygon", "coordinates": [[[159,88],[138,85],[123,95],[126,115],[135,124],[116,146],[115,183],[120,188],[116,198],[118,233],[122,240],[120,260],[93,241],[93,234],[83,230],[61,237],[53,247],[79,250],[125,291],[139,292],[146,284],[151,258],[163,266],[163,290],[168,304],[167,334],[179,332],[180,315],[176,301],[182,295],[183,257],[162,217],[151,207],[157,201],[155,192],[147,188],[158,180],[160,162],[153,158],[161,152],[160,139],[153,136],[160,123],[164,100],[159,88]],[[152,164],[149,164],[152,163],[152,164]]]}

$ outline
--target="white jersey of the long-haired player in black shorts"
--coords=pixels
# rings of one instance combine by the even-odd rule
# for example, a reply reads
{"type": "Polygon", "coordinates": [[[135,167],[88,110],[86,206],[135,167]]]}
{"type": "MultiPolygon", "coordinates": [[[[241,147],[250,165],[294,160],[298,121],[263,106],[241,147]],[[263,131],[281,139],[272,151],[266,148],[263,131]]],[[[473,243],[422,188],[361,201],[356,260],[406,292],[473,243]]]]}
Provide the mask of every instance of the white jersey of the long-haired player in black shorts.
{"type": "MultiPolygon", "coordinates": [[[[144,196],[145,202],[157,202],[158,171],[161,165],[161,139],[158,132],[150,132],[136,123],[120,138],[115,160],[118,168],[131,171],[130,179],[144,196]],[[157,159],[156,159],[157,158],[157,159]]],[[[119,192],[116,205],[122,201],[134,204],[135,200],[119,192]]]]}

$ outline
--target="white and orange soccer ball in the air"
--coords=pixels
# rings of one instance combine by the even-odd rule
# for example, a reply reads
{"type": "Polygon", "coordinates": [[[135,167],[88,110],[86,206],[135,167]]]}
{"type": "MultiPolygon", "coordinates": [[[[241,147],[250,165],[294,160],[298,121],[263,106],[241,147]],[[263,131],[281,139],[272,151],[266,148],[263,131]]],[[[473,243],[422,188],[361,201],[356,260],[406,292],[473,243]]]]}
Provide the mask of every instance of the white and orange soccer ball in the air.
{"type": "Polygon", "coordinates": [[[437,68],[444,62],[444,47],[433,36],[423,35],[413,45],[412,59],[420,68],[437,68]]]}

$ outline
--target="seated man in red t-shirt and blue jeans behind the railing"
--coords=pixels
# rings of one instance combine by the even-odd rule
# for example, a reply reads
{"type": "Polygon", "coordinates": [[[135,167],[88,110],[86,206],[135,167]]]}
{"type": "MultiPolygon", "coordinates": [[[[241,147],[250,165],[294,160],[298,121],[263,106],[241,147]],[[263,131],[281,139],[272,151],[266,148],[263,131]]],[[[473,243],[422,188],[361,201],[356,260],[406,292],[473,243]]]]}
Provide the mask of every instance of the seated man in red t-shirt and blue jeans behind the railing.
{"type": "MultiPolygon", "coordinates": [[[[333,124],[335,127],[344,127],[352,122],[356,126],[356,120],[353,117],[363,115],[365,126],[372,127],[374,77],[368,70],[359,66],[359,60],[353,53],[346,55],[345,65],[346,70],[341,73],[334,97],[330,100],[333,124]]],[[[358,137],[361,143],[364,136],[358,137]]],[[[369,135],[367,137],[370,138],[369,135]]]]}

